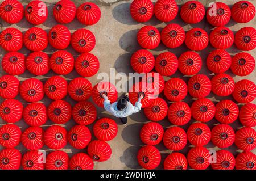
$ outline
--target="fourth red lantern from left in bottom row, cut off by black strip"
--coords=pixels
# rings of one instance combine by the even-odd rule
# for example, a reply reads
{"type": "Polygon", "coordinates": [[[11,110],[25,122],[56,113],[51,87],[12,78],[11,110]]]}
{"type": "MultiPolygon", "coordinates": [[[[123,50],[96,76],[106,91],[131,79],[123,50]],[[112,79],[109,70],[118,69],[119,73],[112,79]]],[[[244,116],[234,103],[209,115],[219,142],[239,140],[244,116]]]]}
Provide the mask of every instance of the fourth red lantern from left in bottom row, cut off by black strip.
{"type": "Polygon", "coordinates": [[[70,159],[71,170],[93,170],[93,159],[85,153],[77,153],[70,159]]]}

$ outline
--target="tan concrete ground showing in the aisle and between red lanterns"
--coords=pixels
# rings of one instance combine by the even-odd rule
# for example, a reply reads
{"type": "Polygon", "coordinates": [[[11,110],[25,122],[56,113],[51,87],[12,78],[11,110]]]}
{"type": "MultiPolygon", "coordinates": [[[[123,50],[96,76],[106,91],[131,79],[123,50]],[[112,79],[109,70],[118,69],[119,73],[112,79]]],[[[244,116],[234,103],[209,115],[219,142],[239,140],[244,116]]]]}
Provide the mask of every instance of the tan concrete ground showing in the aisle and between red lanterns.
{"type": "MultiPolygon", "coordinates": [[[[57,24],[57,22],[53,18],[53,13],[52,13],[52,8],[57,1],[58,0],[44,1],[47,3],[49,15],[48,15],[47,21],[39,25],[38,27],[43,28],[47,32],[51,29],[52,26],[57,24]]],[[[26,6],[27,3],[30,1],[23,0],[21,2],[23,3],[24,6],[26,6]]],[[[85,1],[75,0],[74,2],[76,3],[76,6],[79,6],[81,5],[81,3],[85,1]]],[[[88,28],[90,31],[94,33],[94,35],[96,36],[96,47],[93,49],[92,53],[95,54],[100,60],[100,70],[98,71],[98,73],[105,72],[109,74],[110,68],[114,68],[115,73],[133,72],[133,69],[130,66],[130,57],[133,54],[133,52],[135,52],[138,49],[141,49],[141,47],[139,47],[137,43],[136,33],[138,32],[139,28],[145,25],[152,25],[159,28],[159,30],[162,30],[162,28],[166,26],[166,24],[168,23],[177,23],[177,24],[180,24],[185,31],[188,31],[193,27],[200,27],[200,28],[203,28],[208,33],[213,28],[212,26],[210,26],[209,23],[207,23],[205,19],[198,24],[193,24],[193,25],[186,24],[181,20],[179,15],[174,20],[168,23],[159,22],[159,20],[153,17],[149,22],[141,24],[141,23],[135,22],[130,16],[129,7],[130,7],[131,1],[95,0],[92,2],[100,6],[100,9],[102,12],[100,21],[94,26],[85,27],[82,24],[80,24],[77,21],[77,19],[75,19],[73,20],[72,23],[67,24],[67,27],[72,33],[78,28],[88,28]]],[[[181,5],[187,1],[176,0],[176,2],[178,3],[179,7],[181,7],[181,5]]],[[[202,2],[205,5],[205,7],[207,7],[209,5],[209,2],[215,2],[215,1],[200,0],[200,2],[202,2]]],[[[235,1],[222,0],[221,2],[225,2],[231,7],[235,1]]],[[[256,0],[253,0],[250,2],[253,2],[254,5],[256,5],[256,0]]],[[[235,33],[236,31],[240,30],[240,28],[245,26],[252,26],[255,28],[255,24],[256,24],[256,18],[254,18],[254,20],[246,24],[239,24],[234,22],[233,20],[230,20],[230,22],[226,25],[226,27],[229,27],[235,33]]],[[[32,25],[29,24],[25,18],[23,18],[23,20],[18,24],[13,24],[13,25],[7,24],[1,20],[1,31],[3,31],[7,27],[18,28],[20,31],[24,33],[28,30],[28,28],[31,28],[32,25]]],[[[203,59],[203,67],[200,73],[208,75],[208,77],[210,78],[213,77],[213,74],[207,69],[205,60],[209,52],[212,51],[213,49],[214,48],[211,45],[208,45],[206,49],[199,52],[200,56],[203,59]]],[[[69,46],[67,50],[71,52],[75,58],[79,55],[79,53],[75,52],[75,50],[73,50],[71,46],[69,46]]],[[[157,56],[162,52],[170,51],[172,53],[175,53],[176,56],[179,57],[181,53],[187,50],[188,48],[185,47],[184,44],[181,47],[175,48],[175,49],[168,49],[164,47],[163,44],[160,44],[158,48],[151,50],[151,52],[155,56],[157,56]]],[[[44,50],[44,52],[48,53],[49,55],[55,51],[56,49],[53,49],[50,45],[48,45],[48,47],[44,50]]],[[[22,48],[22,50],[20,50],[20,52],[24,53],[26,56],[30,53],[30,51],[24,47],[22,48]]],[[[233,45],[232,48],[228,49],[228,52],[234,55],[240,51],[233,45]]],[[[1,60],[5,53],[6,52],[1,48],[0,49],[1,60]]],[[[252,50],[249,53],[251,53],[254,57],[256,57],[255,50],[252,50]]],[[[2,76],[3,74],[5,74],[5,72],[2,70],[2,67],[1,67],[0,75],[2,76]]],[[[232,75],[235,82],[239,81],[240,79],[250,79],[251,81],[254,81],[254,83],[256,83],[255,70],[253,71],[253,73],[251,73],[247,77],[238,77],[234,75],[230,70],[228,71],[228,74],[232,75]]],[[[53,73],[53,71],[49,71],[49,73],[47,73],[46,75],[39,76],[36,78],[41,79],[43,82],[45,82],[47,78],[53,75],[55,75],[55,73],[53,73]]],[[[20,81],[23,81],[24,79],[31,78],[31,77],[34,77],[34,75],[26,71],[24,74],[19,75],[18,78],[20,81]]],[[[65,78],[67,78],[68,81],[70,81],[75,77],[79,77],[79,75],[76,73],[75,70],[73,70],[71,74],[68,74],[67,76],[65,76],[65,78]]],[[[179,71],[177,71],[177,73],[175,73],[171,77],[180,77],[185,81],[188,81],[188,78],[189,78],[181,74],[179,71]]],[[[165,77],[165,79],[167,81],[169,77],[165,77]]],[[[96,83],[100,81],[100,80],[97,80],[97,75],[94,75],[94,77],[89,78],[89,80],[92,82],[93,85],[96,85],[96,83]]],[[[119,93],[119,95],[121,94],[122,92],[119,93]]],[[[163,95],[161,95],[161,97],[163,97],[163,95]]],[[[208,96],[208,98],[210,98],[214,102],[218,102],[219,100],[222,100],[222,99],[233,100],[232,96],[228,96],[226,98],[220,98],[212,93],[208,96]]],[[[24,104],[24,106],[26,106],[27,103],[24,102],[24,100],[22,100],[22,98],[20,98],[19,95],[16,99],[19,99],[24,104]]],[[[67,96],[65,100],[70,102],[72,106],[75,105],[76,103],[69,96],[67,96]]],[[[91,98],[89,100],[92,102],[91,98]]],[[[48,106],[51,100],[49,100],[47,96],[44,96],[42,102],[46,104],[46,106],[48,106]]],[[[187,98],[185,99],[185,102],[191,105],[191,103],[193,102],[193,99],[191,98],[191,96],[188,95],[187,98]]],[[[253,103],[256,103],[256,100],[254,100],[253,103]]],[[[141,169],[141,167],[138,165],[137,158],[136,158],[138,149],[141,146],[143,146],[143,143],[139,138],[139,131],[144,125],[144,123],[147,123],[148,121],[150,121],[144,115],[143,110],[137,114],[130,116],[128,120],[128,124],[125,126],[120,123],[119,119],[109,115],[109,113],[106,112],[103,108],[97,107],[97,114],[98,114],[97,115],[98,118],[111,117],[112,119],[114,119],[118,124],[118,135],[117,137],[115,137],[114,140],[108,142],[112,148],[112,157],[106,162],[102,162],[102,163],[94,162],[94,169],[141,169]]],[[[184,125],[182,128],[187,130],[189,125],[193,122],[195,122],[195,120],[192,119],[187,125],[184,125]]],[[[168,119],[164,119],[159,123],[163,125],[164,129],[172,126],[172,124],[168,121],[168,119]]],[[[0,120],[0,124],[1,125],[5,124],[5,121],[0,120]]],[[[18,125],[22,129],[22,131],[24,131],[28,127],[28,125],[24,123],[24,120],[20,120],[18,121],[18,123],[15,123],[15,124],[18,125]]],[[[46,128],[51,124],[52,124],[51,121],[48,120],[46,125],[44,125],[43,127],[46,128]]],[[[212,128],[214,124],[217,124],[217,121],[213,119],[212,121],[209,121],[207,124],[209,125],[210,128],[212,128]]],[[[69,130],[73,125],[75,125],[75,122],[73,120],[70,120],[68,121],[67,124],[63,125],[63,127],[69,130]]],[[[242,127],[239,120],[235,121],[231,125],[235,130],[242,127]]],[[[93,124],[89,125],[90,130],[92,130],[92,127],[93,127],[93,124]]],[[[188,143],[186,148],[184,150],[181,150],[180,152],[183,154],[187,154],[190,147],[191,145],[188,143]]],[[[218,149],[214,147],[214,145],[211,142],[206,147],[208,149],[218,149]]],[[[162,142],[159,145],[156,145],[156,148],[160,150],[162,155],[162,162],[157,169],[163,169],[164,158],[166,158],[166,156],[169,153],[171,153],[171,151],[166,149],[162,142]]],[[[1,149],[2,148],[0,146],[0,150],[1,149]]],[[[17,147],[17,149],[22,151],[23,154],[26,152],[26,149],[22,144],[20,144],[17,147]]],[[[51,151],[47,148],[47,146],[44,146],[43,149],[45,149],[47,152],[51,151]]],[[[73,149],[72,146],[70,146],[69,144],[65,146],[63,150],[67,151],[70,157],[73,154],[78,152],[86,152],[86,149],[82,149],[82,150],[73,149]]],[[[237,155],[238,152],[241,151],[241,150],[237,150],[236,146],[234,145],[230,146],[228,150],[232,151],[234,155],[237,155]]],[[[256,153],[256,149],[254,149],[253,152],[256,153]]]]}

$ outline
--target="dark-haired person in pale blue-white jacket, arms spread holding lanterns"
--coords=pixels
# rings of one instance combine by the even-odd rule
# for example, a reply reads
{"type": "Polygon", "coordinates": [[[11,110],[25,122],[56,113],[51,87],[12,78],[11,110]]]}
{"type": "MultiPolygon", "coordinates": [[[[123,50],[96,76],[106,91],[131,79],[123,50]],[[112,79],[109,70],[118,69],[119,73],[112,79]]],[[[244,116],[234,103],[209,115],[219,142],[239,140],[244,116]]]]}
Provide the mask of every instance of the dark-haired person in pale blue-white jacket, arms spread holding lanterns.
{"type": "Polygon", "coordinates": [[[106,111],[112,113],[115,117],[119,117],[123,124],[127,124],[127,116],[132,115],[133,113],[139,112],[141,110],[141,100],[143,99],[143,95],[139,96],[138,101],[133,104],[130,103],[129,94],[126,93],[123,98],[119,99],[118,102],[110,103],[108,96],[102,94],[104,98],[104,108],[106,111]]]}

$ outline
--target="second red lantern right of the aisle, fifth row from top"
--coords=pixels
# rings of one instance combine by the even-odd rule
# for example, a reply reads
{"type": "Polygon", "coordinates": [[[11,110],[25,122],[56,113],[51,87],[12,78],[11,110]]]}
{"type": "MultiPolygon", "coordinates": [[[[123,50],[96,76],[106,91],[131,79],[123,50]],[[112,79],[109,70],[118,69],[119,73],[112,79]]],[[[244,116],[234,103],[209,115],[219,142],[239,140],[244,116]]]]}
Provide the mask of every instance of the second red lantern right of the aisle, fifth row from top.
{"type": "Polygon", "coordinates": [[[185,125],[191,120],[191,110],[187,103],[176,102],[168,108],[168,120],[174,125],[185,125]]]}

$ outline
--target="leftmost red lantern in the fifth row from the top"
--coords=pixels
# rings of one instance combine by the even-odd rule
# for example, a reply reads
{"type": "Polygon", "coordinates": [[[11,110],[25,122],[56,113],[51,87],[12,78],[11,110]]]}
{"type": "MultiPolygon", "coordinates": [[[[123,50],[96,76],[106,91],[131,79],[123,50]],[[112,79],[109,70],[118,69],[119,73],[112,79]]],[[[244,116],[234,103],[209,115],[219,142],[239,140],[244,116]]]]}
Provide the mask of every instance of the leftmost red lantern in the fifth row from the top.
{"type": "Polygon", "coordinates": [[[16,123],[22,119],[22,111],[22,103],[16,99],[6,99],[0,105],[0,117],[7,123],[16,123]]]}

